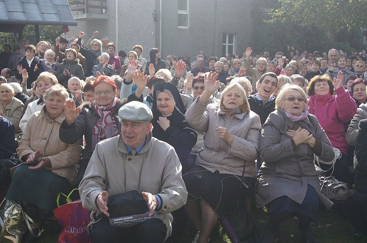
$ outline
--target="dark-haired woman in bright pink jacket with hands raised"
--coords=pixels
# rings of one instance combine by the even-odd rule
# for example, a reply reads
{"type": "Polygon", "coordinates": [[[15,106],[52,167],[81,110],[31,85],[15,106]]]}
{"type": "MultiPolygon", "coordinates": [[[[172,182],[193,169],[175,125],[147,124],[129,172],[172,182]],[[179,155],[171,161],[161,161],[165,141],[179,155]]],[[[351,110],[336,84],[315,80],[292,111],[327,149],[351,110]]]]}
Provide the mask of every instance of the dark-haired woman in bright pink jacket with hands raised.
{"type": "MultiPolygon", "coordinates": [[[[329,75],[318,75],[311,79],[307,93],[310,96],[309,112],[319,119],[333,147],[342,153],[342,157],[335,162],[333,176],[351,186],[353,178],[348,173],[346,156],[348,144],[345,140],[343,124],[353,118],[357,112],[357,106],[348,90],[342,86],[343,81],[343,72],[339,72],[338,77],[334,80],[329,75]],[[335,96],[332,95],[334,91],[335,96]]],[[[331,173],[332,170],[326,174],[331,173]]]]}

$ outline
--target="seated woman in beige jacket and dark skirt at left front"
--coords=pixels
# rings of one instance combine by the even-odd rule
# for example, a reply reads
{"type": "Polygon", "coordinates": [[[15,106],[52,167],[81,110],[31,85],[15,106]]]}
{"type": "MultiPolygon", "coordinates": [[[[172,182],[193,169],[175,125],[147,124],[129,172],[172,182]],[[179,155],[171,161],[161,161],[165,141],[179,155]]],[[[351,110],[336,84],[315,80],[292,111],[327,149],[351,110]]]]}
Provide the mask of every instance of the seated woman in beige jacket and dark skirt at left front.
{"type": "Polygon", "coordinates": [[[23,164],[15,170],[6,198],[21,202],[36,223],[41,221],[41,210],[46,219],[52,216],[57,195],[66,193],[77,176],[82,143],[66,144],[59,138],[68,98],[68,91],[59,84],[47,89],[45,105],[29,117],[17,149],[23,164]]]}

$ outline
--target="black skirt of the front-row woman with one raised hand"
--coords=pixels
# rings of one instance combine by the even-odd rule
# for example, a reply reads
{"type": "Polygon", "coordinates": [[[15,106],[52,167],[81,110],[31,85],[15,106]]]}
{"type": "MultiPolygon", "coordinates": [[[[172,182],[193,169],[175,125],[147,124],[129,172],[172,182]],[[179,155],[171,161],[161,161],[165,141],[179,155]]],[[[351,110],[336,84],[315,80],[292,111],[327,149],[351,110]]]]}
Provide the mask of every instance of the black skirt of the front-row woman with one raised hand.
{"type": "Polygon", "coordinates": [[[200,165],[186,172],[183,179],[188,192],[187,200],[204,200],[218,217],[237,198],[241,188],[240,176],[212,173],[200,165]]]}

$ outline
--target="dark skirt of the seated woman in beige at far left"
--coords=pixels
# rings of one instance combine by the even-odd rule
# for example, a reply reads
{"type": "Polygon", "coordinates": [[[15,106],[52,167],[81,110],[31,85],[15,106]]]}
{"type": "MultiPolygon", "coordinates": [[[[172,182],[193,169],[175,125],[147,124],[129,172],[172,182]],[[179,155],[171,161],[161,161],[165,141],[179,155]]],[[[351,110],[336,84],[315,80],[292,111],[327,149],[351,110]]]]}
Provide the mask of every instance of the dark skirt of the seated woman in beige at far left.
{"type": "Polygon", "coordinates": [[[57,208],[56,198],[60,192],[66,193],[71,184],[67,178],[57,176],[42,167],[39,170],[29,170],[24,164],[19,166],[10,183],[6,199],[37,205],[43,210],[57,208]]]}

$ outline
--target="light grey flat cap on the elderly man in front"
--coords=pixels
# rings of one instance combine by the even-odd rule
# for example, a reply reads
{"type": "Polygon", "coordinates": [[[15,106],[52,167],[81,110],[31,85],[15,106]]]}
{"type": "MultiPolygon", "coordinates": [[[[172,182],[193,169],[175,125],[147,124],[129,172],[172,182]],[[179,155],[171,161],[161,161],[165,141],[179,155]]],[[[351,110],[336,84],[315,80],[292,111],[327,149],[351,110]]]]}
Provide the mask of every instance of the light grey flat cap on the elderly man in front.
{"type": "Polygon", "coordinates": [[[131,101],[123,105],[118,110],[118,117],[122,120],[133,122],[151,122],[153,119],[152,110],[147,105],[138,101],[131,101]]]}

